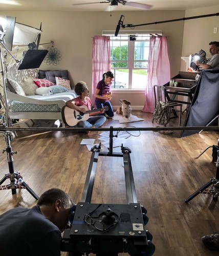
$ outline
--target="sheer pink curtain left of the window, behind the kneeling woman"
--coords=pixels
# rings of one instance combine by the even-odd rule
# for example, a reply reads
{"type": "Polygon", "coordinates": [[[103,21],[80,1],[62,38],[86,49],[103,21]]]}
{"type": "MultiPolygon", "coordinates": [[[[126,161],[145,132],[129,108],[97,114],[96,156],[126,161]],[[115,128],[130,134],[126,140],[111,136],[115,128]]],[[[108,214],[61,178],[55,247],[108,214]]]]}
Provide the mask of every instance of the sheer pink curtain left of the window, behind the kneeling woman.
{"type": "Polygon", "coordinates": [[[111,52],[109,36],[95,36],[93,38],[93,81],[92,102],[95,105],[94,92],[103,73],[111,70],[111,52]]]}

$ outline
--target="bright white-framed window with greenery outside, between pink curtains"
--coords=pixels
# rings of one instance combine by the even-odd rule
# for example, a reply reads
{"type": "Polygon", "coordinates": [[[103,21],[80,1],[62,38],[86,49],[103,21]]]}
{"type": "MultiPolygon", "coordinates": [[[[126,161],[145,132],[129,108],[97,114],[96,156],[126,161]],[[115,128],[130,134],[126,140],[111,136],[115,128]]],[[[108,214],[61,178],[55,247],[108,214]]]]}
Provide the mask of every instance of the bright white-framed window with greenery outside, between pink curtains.
{"type": "Polygon", "coordinates": [[[149,54],[149,34],[111,38],[112,89],[145,89],[149,54]]]}

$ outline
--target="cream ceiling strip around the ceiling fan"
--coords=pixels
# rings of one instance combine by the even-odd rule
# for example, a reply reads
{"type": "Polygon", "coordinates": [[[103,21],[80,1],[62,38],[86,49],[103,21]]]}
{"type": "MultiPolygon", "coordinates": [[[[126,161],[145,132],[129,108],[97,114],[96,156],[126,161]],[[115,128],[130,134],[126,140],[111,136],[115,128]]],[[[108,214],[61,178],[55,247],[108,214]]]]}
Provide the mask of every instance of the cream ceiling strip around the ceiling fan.
{"type": "MultiPolygon", "coordinates": [[[[110,11],[107,0],[0,0],[0,11],[110,11]],[[72,4],[85,4],[77,5],[72,4]],[[95,4],[96,3],[96,4],[95,4]]],[[[150,10],[188,10],[218,5],[218,0],[126,0],[152,5],[150,10]]],[[[112,11],[141,11],[142,9],[119,4],[112,11]]],[[[218,11],[218,10],[217,10],[218,11]]]]}

